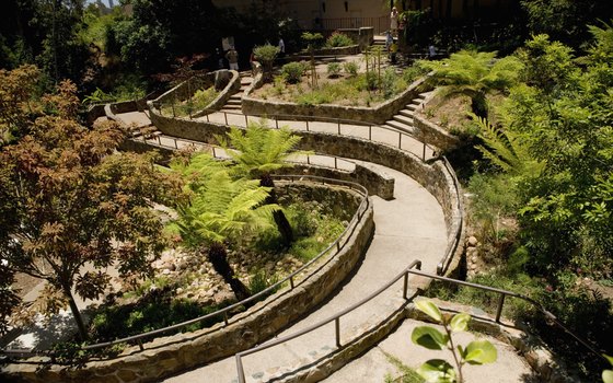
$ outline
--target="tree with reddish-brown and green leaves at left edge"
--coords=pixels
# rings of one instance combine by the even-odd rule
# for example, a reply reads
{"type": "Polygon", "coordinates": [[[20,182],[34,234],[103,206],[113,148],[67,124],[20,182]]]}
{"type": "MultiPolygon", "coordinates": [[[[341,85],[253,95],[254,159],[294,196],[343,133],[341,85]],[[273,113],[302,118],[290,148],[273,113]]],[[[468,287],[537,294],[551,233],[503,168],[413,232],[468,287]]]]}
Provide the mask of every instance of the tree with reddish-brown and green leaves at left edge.
{"type": "Polygon", "coordinates": [[[152,204],[177,184],[155,170],[152,156],[115,154],[125,138],[117,125],[80,126],[74,92],[60,83],[58,94],[45,97],[55,113],[0,152],[0,292],[10,298],[15,272],[45,279],[86,338],[74,292],[100,297],[109,286],[108,267],[122,276],[152,271],[165,246],[152,204]]]}

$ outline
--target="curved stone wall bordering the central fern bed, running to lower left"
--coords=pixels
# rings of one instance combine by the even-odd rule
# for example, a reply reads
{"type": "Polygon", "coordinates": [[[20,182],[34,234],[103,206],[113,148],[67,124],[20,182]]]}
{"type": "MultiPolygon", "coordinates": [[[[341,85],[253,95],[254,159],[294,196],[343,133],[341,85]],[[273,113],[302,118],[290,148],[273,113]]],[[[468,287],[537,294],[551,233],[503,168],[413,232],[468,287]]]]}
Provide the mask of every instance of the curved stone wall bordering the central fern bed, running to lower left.
{"type": "MultiPolygon", "coordinates": [[[[292,187],[298,185],[293,183],[292,187]]],[[[303,186],[314,188],[314,193],[325,193],[316,189],[328,188],[312,184],[303,186]]],[[[351,194],[348,189],[345,190],[351,194]]],[[[358,264],[373,232],[373,210],[372,204],[369,204],[361,221],[343,242],[340,251],[316,266],[314,275],[296,281],[294,289],[286,288],[246,312],[232,316],[228,325],[219,323],[207,329],[159,337],[146,344],[144,351],[130,347],[117,358],[91,361],[80,369],[57,364],[39,369],[38,364],[23,363],[7,365],[2,374],[15,382],[152,382],[230,357],[270,338],[325,300],[358,264]]]]}

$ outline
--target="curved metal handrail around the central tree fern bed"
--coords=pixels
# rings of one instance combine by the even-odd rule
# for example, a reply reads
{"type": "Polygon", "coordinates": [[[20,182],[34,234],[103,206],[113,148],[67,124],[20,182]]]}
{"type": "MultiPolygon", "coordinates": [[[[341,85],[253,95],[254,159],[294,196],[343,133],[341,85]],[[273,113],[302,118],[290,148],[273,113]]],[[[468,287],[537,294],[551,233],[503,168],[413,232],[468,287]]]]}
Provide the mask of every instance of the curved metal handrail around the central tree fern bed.
{"type": "MultiPolygon", "coordinates": [[[[334,242],[332,242],[316,257],[312,258],[307,264],[304,264],[300,268],[298,268],[296,271],[293,271],[292,274],[290,274],[286,278],[279,280],[278,282],[269,286],[268,288],[264,289],[263,291],[261,291],[261,292],[258,292],[254,295],[251,295],[250,298],[244,299],[240,302],[236,302],[234,304],[231,304],[229,306],[220,309],[220,310],[218,310],[213,313],[209,313],[209,314],[206,314],[206,315],[203,315],[203,316],[198,316],[196,318],[185,321],[185,322],[182,322],[182,323],[177,323],[177,324],[174,324],[172,326],[158,328],[158,329],[154,329],[154,330],[151,330],[151,332],[141,333],[141,334],[138,334],[138,335],[132,335],[132,336],[129,336],[129,337],[124,337],[124,338],[115,339],[115,340],[111,340],[111,341],[105,341],[105,343],[100,343],[100,344],[94,344],[94,345],[88,345],[88,346],[82,347],[81,349],[82,350],[94,350],[94,349],[100,349],[100,348],[114,346],[114,345],[117,345],[117,344],[137,341],[140,350],[142,351],[142,350],[144,350],[144,346],[141,341],[143,338],[165,334],[167,332],[178,329],[178,328],[183,328],[185,326],[188,326],[188,325],[201,322],[201,321],[206,321],[208,318],[211,318],[211,317],[215,317],[215,316],[218,316],[218,315],[223,315],[223,322],[224,322],[225,325],[228,325],[229,324],[228,313],[231,312],[232,310],[234,310],[236,307],[240,307],[240,306],[243,306],[246,303],[253,302],[253,301],[255,301],[255,300],[257,300],[262,297],[265,297],[266,294],[268,294],[270,292],[274,292],[275,290],[279,289],[287,281],[289,281],[289,283],[290,283],[290,290],[293,290],[296,288],[296,286],[299,285],[294,279],[300,272],[302,272],[303,270],[309,268],[311,265],[313,265],[314,263],[320,260],[325,254],[327,254],[331,249],[333,249],[335,247],[336,247],[336,252],[337,252],[336,254],[338,254],[340,248],[345,245],[345,243],[342,245],[342,242],[347,240],[347,239],[345,239],[345,236],[350,231],[355,230],[355,225],[361,221],[365,212],[368,209],[368,206],[370,205],[370,201],[368,199],[368,190],[366,189],[366,187],[363,187],[362,185],[352,183],[352,182],[342,181],[342,179],[333,179],[333,178],[325,178],[325,177],[314,176],[314,175],[274,175],[273,177],[276,178],[276,179],[290,179],[292,182],[303,181],[303,179],[313,179],[313,181],[316,181],[321,184],[336,184],[336,185],[340,185],[340,186],[346,186],[346,187],[349,187],[351,190],[355,190],[355,192],[359,193],[362,196],[362,200],[361,200],[360,205],[358,206],[358,209],[357,209],[356,213],[354,214],[354,217],[351,218],[351,220],[347,224],[347,228],[345,228],[343,233],[334,242]]],[[[319,268],[317,268],[317,270],[319,270],[319,268]]],[[[308,275],[304,279],[300,280],[300,282],[303,282],[304,280],[309,279],[312,275],[313,274],[308,275]]],[[[35,355],[53,355],[53,352],[50,352],[49,350],[37,350],[37,351],[0,350],[0,355],[8,355],[8,356],[10,356],[10,355],[18,356],[19,355],[19,356],[24,357],[24,356],[35,356],[35,355]]]]}

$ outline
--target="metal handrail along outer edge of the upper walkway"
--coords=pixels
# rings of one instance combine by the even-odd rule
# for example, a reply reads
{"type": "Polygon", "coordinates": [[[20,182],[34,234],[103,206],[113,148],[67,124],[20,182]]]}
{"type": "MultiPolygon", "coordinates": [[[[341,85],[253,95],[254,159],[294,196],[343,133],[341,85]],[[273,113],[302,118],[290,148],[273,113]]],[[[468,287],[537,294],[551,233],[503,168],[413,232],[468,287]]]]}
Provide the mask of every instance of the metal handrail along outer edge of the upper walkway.
{"type": "MultiPolygon", "coordinates": [[[[160,115],[163,116],[161,114],[161,108],[158,108],[158,111],[160,111],[160,115]]],[[[378,124],[368,123],[368,121],[359,121],[359,120],[325,117],[325,116],[322,116],[322,117],[317,116],[315,119],[313,119],[313,116],[303,116],[303,115],[258,115],[258,114],[246,115],[244,113],[236,113],[236,112],[227,112],[227,111],[218,111],[218,109],[203,109],[203,113],[205,113],[205,112],[210,112],[210,113],[207,113],[206,115],[204,115],[201,117],[198,117],[198,118],[203,119],[203,118],[206,117],[206,121],[209,123],[209,124],[221,124],[221,123],[211,121],[211,118],[209,116],[213,113],[223,114],[223,124],[222,125],[231,125],[231,124],[228,123],[228,116],[241,116],[241,117],[243,117],[244,120],[245,120],[245,126],[248,125],[248,118],[250,117],[267,118],[267,119],[270,119],[270,120],[275,121],[275,128],[276,129],[279,129],[279,121],[281,121],[281,124],[284,124],[286,121],[296,120],[296,121],[304,123],[307,131],[312,131],[310,126],[309,126],[309,123],[313,123],[313,121],[315,121],[315,123],[332,123],[332,124],[336,124],[337,135],[339,135],[339,136],[340,136],[340,130],[342,130],[340,128],[342,128],[343,125],[363,126],[363,127],[368,127],[368,140],[369,141],[373,141],[372,140],[372,129],[377,128],[377,129],[390,131],[390,132],[393,132],[393,134],[397,134],[398,135],[397,146],[393,146],[393,147],[398,148],[401,150],[403,150],[402,149],[403,137],[408,137],[408,138],[412,138],[412,139],[416,140],[418,142],[421,142],[423,148],[424,148],[423,151],[421,151],[421,161],[424,161],[424,162],[426,161],[426,148],[430,149],[430,151],[432,151],[432,152],[436,151],[436,148],[433,148],[429,143],[427,143],[426,140],[419,139],[418,137],[409,134],[408,131],[403,131],[403,130],[396,129],[396,128],[389,128],[389,127],[385,127],[383,125],[378,125],[378,124]]],[[[169,117],[169,118],[182,118],[182,117],[169,117]]],[[[345,136],[362,138],[362,137],[358,137],[358,136],[348,136],[348,135],[345,135],[345,136]]],[[[379,141],[373,141],[373,142],[379,142],[379,141]]],[[[384,143],[384,142],[382,142],[382,143],[384,143]]],[[[388,144],[388,143],[385,143],[385,144],[388,144]]]]}

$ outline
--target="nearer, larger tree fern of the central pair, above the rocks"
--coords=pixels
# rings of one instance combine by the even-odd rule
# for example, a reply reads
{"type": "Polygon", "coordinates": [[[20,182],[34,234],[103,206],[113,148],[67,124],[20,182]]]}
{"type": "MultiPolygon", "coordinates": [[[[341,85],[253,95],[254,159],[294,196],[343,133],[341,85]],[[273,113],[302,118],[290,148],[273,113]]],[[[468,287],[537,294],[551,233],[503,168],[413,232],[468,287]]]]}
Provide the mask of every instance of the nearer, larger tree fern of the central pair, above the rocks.
{"type": "Polygon", "coordinates": [[[187,201],[177,208],[175,224],[183,241],[193,248],[208,246],[208,259],[215,270],[230,285],[236,299],[251,295],[235,277],[228,262],[227,241],[241,241],[250,234],[271,227],[277,205],[265,205],[269,188],[257,181],[232,179],[228,169],[200,153],[187,164],[173,164],[187,182],[187,201]]]}

